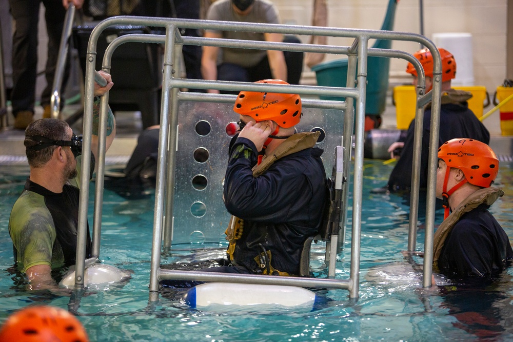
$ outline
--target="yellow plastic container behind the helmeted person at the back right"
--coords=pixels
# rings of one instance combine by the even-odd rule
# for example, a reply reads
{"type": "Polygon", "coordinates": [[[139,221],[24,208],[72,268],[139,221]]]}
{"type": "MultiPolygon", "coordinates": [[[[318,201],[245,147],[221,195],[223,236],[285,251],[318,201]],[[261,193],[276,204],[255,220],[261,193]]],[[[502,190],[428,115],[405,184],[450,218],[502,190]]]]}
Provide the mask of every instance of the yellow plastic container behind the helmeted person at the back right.
{"type": "MultiPolygon", "coordinates": [[[[486,87],[484,86],[465,86],[452,87],[458,90],[464,90],[472,93],[468,99],[468,108],[479,118],[483,116],[483,108],[488,106],[489,99],[485,104],[486,87]]],[[[506,88],[513,89],[513,88],[506,88]]],[[[497,96],[499,97],[499,95],[497,96]]],[[[415,118],[415,87],[397,86],[393,88],[393,100],[396,103],[396,120],[398,129],[408,129],[411,120],[415,118]]],[[[511,104],[513,106],[513,103],[511,104]]]]}

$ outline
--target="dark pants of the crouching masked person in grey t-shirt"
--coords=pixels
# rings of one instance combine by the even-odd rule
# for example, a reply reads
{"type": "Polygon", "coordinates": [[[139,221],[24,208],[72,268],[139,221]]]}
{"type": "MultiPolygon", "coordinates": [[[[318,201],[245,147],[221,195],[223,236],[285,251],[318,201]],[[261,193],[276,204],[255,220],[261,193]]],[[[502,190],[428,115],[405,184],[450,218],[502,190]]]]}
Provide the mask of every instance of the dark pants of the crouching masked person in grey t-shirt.
{"type": "MultiPolygon", "coordinates": [[[[295,36],[285,36],[284,43],[301,43],[295,36]]],[[[287,82],[299,84],[303,71],[303,52],[284,51],[287,64],[287,82]]],[[[236,64],[223,63],[218,66],[219,81],[257,82],[261,79],[273,78],[267,55],[254,67],[244,68],[236,64]]],[[[222,91],[225,94],[238,94],[239,92],[222,91]]]]}

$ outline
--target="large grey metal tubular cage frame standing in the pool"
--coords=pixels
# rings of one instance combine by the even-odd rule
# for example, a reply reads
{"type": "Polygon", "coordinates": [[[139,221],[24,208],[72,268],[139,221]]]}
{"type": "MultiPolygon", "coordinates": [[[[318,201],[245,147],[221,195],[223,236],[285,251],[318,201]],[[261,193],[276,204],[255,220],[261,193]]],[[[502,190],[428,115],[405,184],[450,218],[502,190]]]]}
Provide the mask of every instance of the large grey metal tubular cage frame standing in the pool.
{"type": "MultiPolygon", "coordinates": [[[[435,219],[435,181],[436,181],[436,163],[438,149],[438,132],[440,116],[440,97],[441,97],[441,60],[436,46],[426,37],[407,32],[362,30],[346,28],[328,28],[328,27],[310,27],[278,24],[254,24],[237,22],[216,22],[216,21],[198,21],[191,19],[176,18],[154,18],[154,17],[135,17],[135,16],[117,16],[105,19],[98,24],[91,33],[87,48],[86,65],[86,88],[85,88],[85,106],[84,106],[84,146],[82,162],[82,179],[80,210],[78,217],[78,243],[76,251],[76,273],[75,273],[75,291],[84,290],[84,260],[85,260],[85,240],[87,228],[87,208],[89,195],[89,179],[87,175],[90,172],[90,151],[91,151],[91,132],[92,132],[92,103],[94,93],[94,67],[96,58],[96,42],[102,31],[113,25],[144,25],[152,27],[164,27],[165,35],[149,34],[129,34],[114,39],[105,52],[102,69],[110,71],[110,59],[114,49],[126,42],[141,43],[163,43],[164,63],[163,63],[163,84],[162,84],[162,103],[161,103],[161,130],[159,139],[159,156],[157,163],[157,179],[155,188],[155,210],[154,210],[154,228],[152,240],[151,272],[150,272],[150,302],[159,298],[159,280],[161,279],[183,279],[183,280],[201,280],[201,281],[225,281],[232,283],[252,283],[252,284],[273,284],[289,285],[300,287],[320,287],[337,288],[349,290],[351,298],[358,298],[359,292],[359,271],[360,271],[360,235],[361,235],[361,207],[362,207],[362,188],[363,188],[363,147],[364,147],[364,119],[365,119],[365,94],[367,83],[367,56],[380,56],[388,58],[402,58],[411,62],[419,75],[417,88],[417,112],[416,112],[416,132],[415,132],[415,160],[413,162],[413,175],[411,187],[410,203],[410,222],[408,250],[415,251],[417,235],[417,216],[419,205],[419,180],[420,180],[420,152],[422,141],[422,117],[423,107],[431,100],[432,96],[432,114],[431,114],[431,136],[429,152],[429,172],[426,206],[426,236],[424,246],[424,278],[423,286],[431,286],[432,272],[432,245],[433,229],[435,219]],[[274,42],[240,41],[231,39],[215,39],[203,37],[181,36],[177,28],[193,29],[212,29],[212,30],[240,30],[251,32],[270,32],[282,34],[299,35],[325,35],[333,37],[352,37],[354,42],[350,47],[333,45],[311,45],[311,44],[290,44],[274,42]],[[434,59],[433,72],[433,90],[427,94],[425,92],[425,79],[422,66],[419,61],[411,54],[388,49],[373,49],[368,47],[368,41],[372,38],[393,39],[398,41],[413,41],[426,46],[432,53],[434,59]],[[226,81],[202,81],[187,78],[178,78],[180,75],[180,58],[183,45],[198,46],[217,46],[217,47],[237,47],[247,49],[264,50],[282,50],[282,51],[301,51],[301,52],[320,52],[332,54],[348,55],[348,77],[347,87],[319,87],[319,86],[300,86],[300,85],[269,85],[254,84],[244,82],[226,82],[226,81]],[[358,64],[357,64],[358,62],[358,64]],[[357,70],[358,65],[358,70],[357,70]],[[353,75],[356,74],[356,80],[353,75]],[[344,114],[344,134],[343,147],[346,151],[351,151],[354,143],[354,175],[353,175],[353,208],[352,208],[352,227],[351,227],[351,253],[350,253],[350,276],[349,279],[335,279],[330,274],[328,278],[301,278],[301,277],[277,277],[266,275],[238,275],[223,274],[212,272],[178,271],[164,270],[160,268],[161,251],[169,250],[171,247],[173,200],[174,200],[174,171],[175,171],[175,142],[177,142],[177,117],[178,105],[181,100],[192,100],[200,102],[221,102],[233,103],[235,95],[204,94],[204,93],[185,93],[181,88],[194,89],[219,89],[236,91],[260,91],[260,92],[283,92],[295,93],[300,95],[331,95],[346,97],[345,102],[331,100],[308,100],[305,99],[303,105],[312,108],[345,109],[344,114]],[[356,106],[355,106],[356,104],[356,106]],[[355,110],[356,107],[356,110],[355,110]],[[354,130],[354,141],[352,141],[353,124],[356,124],[354,130]],[[171,148],[168,148],[168,147],[171,148]],[[86,189],[86,190],[84,190],[86,189]]],[[[98,256],[100,252],[100,227],[102,216],[102,197],[103,180],[105,173],[105,132],[107,118],[108,94],[101,100],[100,129],[99,139],[100,147],[98,151],[98,171],[96,176],[95,191],[95,210],[93,224],[93,254],[98,256]]],[[[344,173],[349,176],[350,155],[346,153],[344,163],[344,173]]],[[[347,206],[349,195],[349,183],[345,182],[343,189],[343,202],[347,206]]],[[[344,210],[339,233],[339,242],[343,240],[347,220],[347,210],[344,210]]],[[[334,240],[336,243],[337,239],[334,240]]],[[[331,246],[332,247],[332,246],[331,246]]],[[[330,253],[330,259],[334,265],[335,253],[330,253]]]]}

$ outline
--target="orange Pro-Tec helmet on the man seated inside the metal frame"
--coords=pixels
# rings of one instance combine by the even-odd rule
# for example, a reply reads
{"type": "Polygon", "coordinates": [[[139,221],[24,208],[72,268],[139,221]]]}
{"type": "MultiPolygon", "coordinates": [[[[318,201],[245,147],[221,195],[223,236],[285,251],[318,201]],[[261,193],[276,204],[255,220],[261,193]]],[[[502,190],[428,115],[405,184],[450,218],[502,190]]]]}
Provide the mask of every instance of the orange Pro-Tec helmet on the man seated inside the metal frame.
{"type": "MultiPolygon", "coordinates": [[[[286,84],[281,79],[263,79],[255,83],[286,84]]],[[[298,94],[241,91],[233,111],[248,115],[257,122],[273,120],[278,126],[290,128],[301,119],[301,97],[298,94]]]]}

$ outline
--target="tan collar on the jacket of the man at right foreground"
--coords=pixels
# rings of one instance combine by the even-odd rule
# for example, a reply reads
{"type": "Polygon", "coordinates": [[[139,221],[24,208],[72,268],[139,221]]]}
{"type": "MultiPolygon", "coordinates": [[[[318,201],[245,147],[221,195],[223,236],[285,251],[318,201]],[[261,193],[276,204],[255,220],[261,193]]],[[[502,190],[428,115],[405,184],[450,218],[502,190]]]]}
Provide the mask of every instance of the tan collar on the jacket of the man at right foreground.
{"type": "Polygon", "coordinates": [[[444,246],[445,239],[452,227],[460,220],[464,213],[476,209],[481,204],[491,206],[497,198],[504,195],[504,191],[498,188],[484,188],[472,193],[442,222],[433,238],[433,265],[437,266],[438,258],[444,246]]]}

